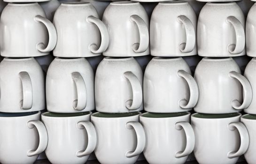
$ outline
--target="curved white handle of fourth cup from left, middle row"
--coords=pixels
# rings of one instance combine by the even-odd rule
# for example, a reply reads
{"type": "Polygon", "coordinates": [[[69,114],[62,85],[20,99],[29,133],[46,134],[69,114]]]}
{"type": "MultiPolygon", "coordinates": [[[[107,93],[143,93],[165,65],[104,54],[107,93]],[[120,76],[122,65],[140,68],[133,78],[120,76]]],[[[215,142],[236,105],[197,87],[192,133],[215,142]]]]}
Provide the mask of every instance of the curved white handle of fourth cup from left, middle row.
{"type": "Polygon", "coordinates": [[[189,101],[187,102],[185,99],[182,99],[179,101],[179,106],[183,109],[194,108],[199,95],[197,83],[195,82],[194,78],[184,70],[179,70],[178,76],[186,80],[190,91],[189,101]]]}

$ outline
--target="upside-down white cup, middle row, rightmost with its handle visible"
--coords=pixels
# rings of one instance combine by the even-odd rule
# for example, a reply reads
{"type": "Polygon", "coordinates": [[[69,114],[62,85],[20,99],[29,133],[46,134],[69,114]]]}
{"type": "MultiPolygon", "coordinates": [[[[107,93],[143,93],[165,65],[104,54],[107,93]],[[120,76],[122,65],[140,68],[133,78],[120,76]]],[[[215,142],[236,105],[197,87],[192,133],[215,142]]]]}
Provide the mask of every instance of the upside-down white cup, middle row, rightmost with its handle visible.
{"type": "Polygon", "coordinates": [[[194,79],[199,90],[195,112],[240,112],[252,101],[251,85],[232,58],[203,58],[194,79]]]}

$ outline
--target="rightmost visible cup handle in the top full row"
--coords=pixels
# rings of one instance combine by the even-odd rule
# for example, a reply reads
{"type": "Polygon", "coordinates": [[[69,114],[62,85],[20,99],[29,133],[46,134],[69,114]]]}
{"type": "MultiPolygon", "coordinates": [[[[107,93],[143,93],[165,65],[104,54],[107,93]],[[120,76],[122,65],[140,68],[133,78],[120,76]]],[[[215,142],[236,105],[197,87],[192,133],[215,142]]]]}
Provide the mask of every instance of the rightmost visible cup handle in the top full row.
{"type": "Polygon", "coordinates": [[[243,52],[245,47],[245,32],[242,23],[234,16],[227,17],[227,22],[233,25],[235,30],[236,44],[228,45],[228,51],[232,54],[243,52]]]}

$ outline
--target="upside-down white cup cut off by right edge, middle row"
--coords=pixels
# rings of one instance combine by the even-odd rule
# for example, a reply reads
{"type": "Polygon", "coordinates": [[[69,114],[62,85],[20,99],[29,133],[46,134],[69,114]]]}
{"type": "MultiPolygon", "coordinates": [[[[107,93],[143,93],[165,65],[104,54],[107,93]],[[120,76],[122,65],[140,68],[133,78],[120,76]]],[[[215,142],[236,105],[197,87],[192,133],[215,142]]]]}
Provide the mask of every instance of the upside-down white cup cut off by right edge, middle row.
{"type": "Polygon", "coordinates": [[[248,81],[251,84],[252,87],[252,101],[251,104],[244,109],[244,112],[249,114],[256,114],[256,96],[254,95],[256,93],[256,58],[252,58],[252,60],[247,64],[244,76],[248,79],[248,81]]]}

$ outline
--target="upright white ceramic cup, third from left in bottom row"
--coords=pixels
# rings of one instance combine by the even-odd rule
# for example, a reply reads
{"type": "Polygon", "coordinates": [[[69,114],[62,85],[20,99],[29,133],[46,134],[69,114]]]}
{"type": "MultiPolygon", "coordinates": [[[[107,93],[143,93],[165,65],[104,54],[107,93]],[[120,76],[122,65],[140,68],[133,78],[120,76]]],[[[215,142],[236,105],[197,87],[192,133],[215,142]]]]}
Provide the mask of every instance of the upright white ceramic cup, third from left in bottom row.
{"type": "Polygon", "coordinates": [[[145,148],[140,112],[91,115],[97,133],[95,156],[101,164],[134,164],[145,148]]]}

